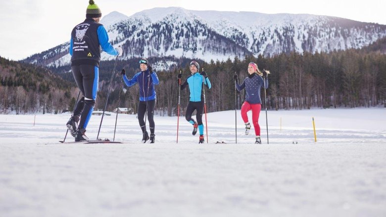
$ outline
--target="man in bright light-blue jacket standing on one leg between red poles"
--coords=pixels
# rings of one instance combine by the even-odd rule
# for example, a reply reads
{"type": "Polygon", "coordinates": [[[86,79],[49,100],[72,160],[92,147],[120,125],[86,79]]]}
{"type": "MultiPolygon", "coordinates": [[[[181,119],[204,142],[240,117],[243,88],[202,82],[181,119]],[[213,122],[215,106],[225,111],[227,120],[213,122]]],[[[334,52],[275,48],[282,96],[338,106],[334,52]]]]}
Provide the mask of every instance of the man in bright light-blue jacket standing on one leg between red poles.
{"type": "MultiPolygon", "coordinates": [[[[204,98],[202,94],[202,88],[204,88],[203,84],[210,89],[212,85],[210,84],[208,75],[206,72],[202,71],[201,73],[197,73],[200,66],[196,61],[192,61],[190,64],[191,75],[189,75],[185,82],[181,85],[180,89],[183,90],[187,86],[189,86],[190,91],[190,100],[188,104],[188,108],[186,109],[185,118],[189,123],[193,125],[192,134],[195,135],[197,133],[197,128],[200,133],[200,137],[198,143],[204,143],[204,124],[202,123],[202,112],[204,110],[204,98]],[[193,111],[196,110],[196,118],[197,122],[192,118],[193,111]]],[[[181,79],[182,73],[177,75],[177,81],[181,79]]]]}

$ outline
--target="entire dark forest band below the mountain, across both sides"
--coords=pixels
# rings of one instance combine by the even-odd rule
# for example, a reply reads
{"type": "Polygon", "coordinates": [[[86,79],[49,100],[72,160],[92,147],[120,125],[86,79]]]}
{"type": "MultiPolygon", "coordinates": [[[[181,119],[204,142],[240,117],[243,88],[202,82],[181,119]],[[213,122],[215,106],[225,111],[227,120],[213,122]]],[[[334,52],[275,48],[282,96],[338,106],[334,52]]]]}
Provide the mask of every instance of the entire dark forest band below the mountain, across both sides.
{"type": "MultiPolygon", "coordinates": [[[[159,58],[149,58],[149,63],[159,58]]],[[[183,68],[173,68],[172,72],[157,72],[160,83],[156,85],[157,103],[155,113],[173,116],[177,114],[178,82],[177,74],[183,73],[182,81],[190,75],[191,59],[174,59],[183,68]]],[[[208,74],[212,83],[205,89],[207,112],[241,108],[244,91],[235,91],[236,72],[239,82],[247,75],[249,62],[258,64],[260,70],[271,71],[269,88],[266,90],[267,109],[310,109],[310,108],[355,108],[385,106],[386,101],[386,55],[368,50],[350,49],[331,53],[291,52],[274,57],[246,56],[243,60],[234,58],[227,61],[205,63],[198,60],[200,71],[208,74]]],[[[61,112],[72,110],[79,89],[75,87],[72,73],[63,73],[65,81],[45,68],[26,66],[18,62],[0,58],[0,112],[61,112]]],[[[114,61],[100,64],[99,92],[96,110],[102,110],[106,103],[107,90],[112,75],[114,61]]],[[[118,106],[132,108],[137,113],[138,86],[127,87],[119,74],[126,69],[129,79],[139,70],[138,60],[118,61],[111,85],[108,111],[118,106]]],[[[69,71],[67,69],[67,71],[69,71]]],[[[264,91],[261,91],[264,102],[264,91]]],[[[180,92],[181,115],[189,103],[189,90],[180,92]]],[[[263,105],[264,108],[265,105],[263,105]]]]}

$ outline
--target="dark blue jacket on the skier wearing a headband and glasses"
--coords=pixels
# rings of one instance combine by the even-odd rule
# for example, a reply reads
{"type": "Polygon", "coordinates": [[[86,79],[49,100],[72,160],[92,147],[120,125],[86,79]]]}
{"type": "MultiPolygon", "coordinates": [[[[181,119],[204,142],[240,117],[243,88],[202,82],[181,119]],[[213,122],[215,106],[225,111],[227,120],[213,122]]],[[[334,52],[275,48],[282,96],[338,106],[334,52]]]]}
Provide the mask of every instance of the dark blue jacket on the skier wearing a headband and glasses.
{"type": "Polygon", "coordinates": [[[149,70],[138,72],[130,80],[126,77],[126,74],[124,74],[123,80],[128,87],[138,83],[140,88],[140,101],[150,101],[157,98],[154,85],[159,84],[159,80],[155,72],[150,73],[149,70]]]}

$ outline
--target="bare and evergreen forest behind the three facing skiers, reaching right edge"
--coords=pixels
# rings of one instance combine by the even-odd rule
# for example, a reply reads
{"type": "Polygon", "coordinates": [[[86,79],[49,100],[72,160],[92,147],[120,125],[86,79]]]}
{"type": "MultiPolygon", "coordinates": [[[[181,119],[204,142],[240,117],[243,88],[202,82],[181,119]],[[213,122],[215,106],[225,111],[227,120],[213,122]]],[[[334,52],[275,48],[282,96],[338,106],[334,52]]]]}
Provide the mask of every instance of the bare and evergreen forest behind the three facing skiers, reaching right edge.
{"type": "MultiPolygon", "coordinates": [[[[376,52],[350,49],[315,54],[292,52],[271,58],[251,56],[245,57],[244,60],[235,58],[223,62],[199,61],[200,71],[204,69],[212,83],[212,89],[205,91],[208,112],[241,108],[245,93],[235,91],[232,77],[236,72],[241,83],[247,76],[249,62],[257,63],[260,70],[271,71],[268,76],[269,88],[266,91],[267,109],[355,108],[385,105],[386,56],[376,52]]],[[[177,114],[179,91],[176,76],[180,70],[183,72],[182,81],[185,81],[190,75],[189,61],[185,63],[185,68],[175,69],[173,72],[157,71],[160,83],[156,86],[156,114],[167,116],[177,114]]],[[[133,74],[128,74],[129,78],[132,76],[133,74]]],[[[120,76],[117,77],[119,80],[120,76]]],[[[120,94],[119,85],[112,91],[109,99],[110,109],[117,106],[117,99],[120,97],[119,107],[132,108],[136,112],[139,99],[138,86],[128,88],[122,83],[122,87],[124,89],[120,94]]],[[[185,108],[189,103],[189,90],[183,90],[180,94],[182,108],[180,113],[185,115],[185,108]]],[[[261,91],[261,94],[264,102],[264,91],[261,91]]],[[[104,95],[106,94],[101,98],[104,95]]]]}

